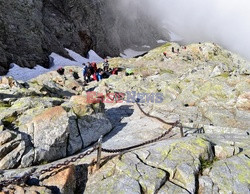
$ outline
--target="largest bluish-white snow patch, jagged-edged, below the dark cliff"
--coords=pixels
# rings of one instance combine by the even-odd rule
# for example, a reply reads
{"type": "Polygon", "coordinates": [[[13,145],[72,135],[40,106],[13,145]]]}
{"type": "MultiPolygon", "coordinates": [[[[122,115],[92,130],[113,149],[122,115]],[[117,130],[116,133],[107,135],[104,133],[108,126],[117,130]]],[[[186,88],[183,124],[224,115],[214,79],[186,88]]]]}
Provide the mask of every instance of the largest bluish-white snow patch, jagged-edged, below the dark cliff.
{"type": "Polygon", "coordinates": [[[9,69],[9,72],[7,73],[6,76],[11,76],[16,80],[28,81],[41,74],[57,70],[59,67],[64,67],[64,66],[82,67],[82,63],[87,63],[87,62],[99,63],[103,61],[103,59],[99,57],[93,50],[89,51],[88,59],[82,57],[81,55],[79,55],[78,53],[72,50],[69,50],[69,49],[66,49],[66,50],[75,61],[62,57],[56,53],[51,53],[50,58],[53,58],[53,64],[51,65],[49,69],[46,69],[40,65],[35,66],[33,69],[22,68],[22,67],[19,67],[17,64],[12,63],[11,68],[9,69]]]}

